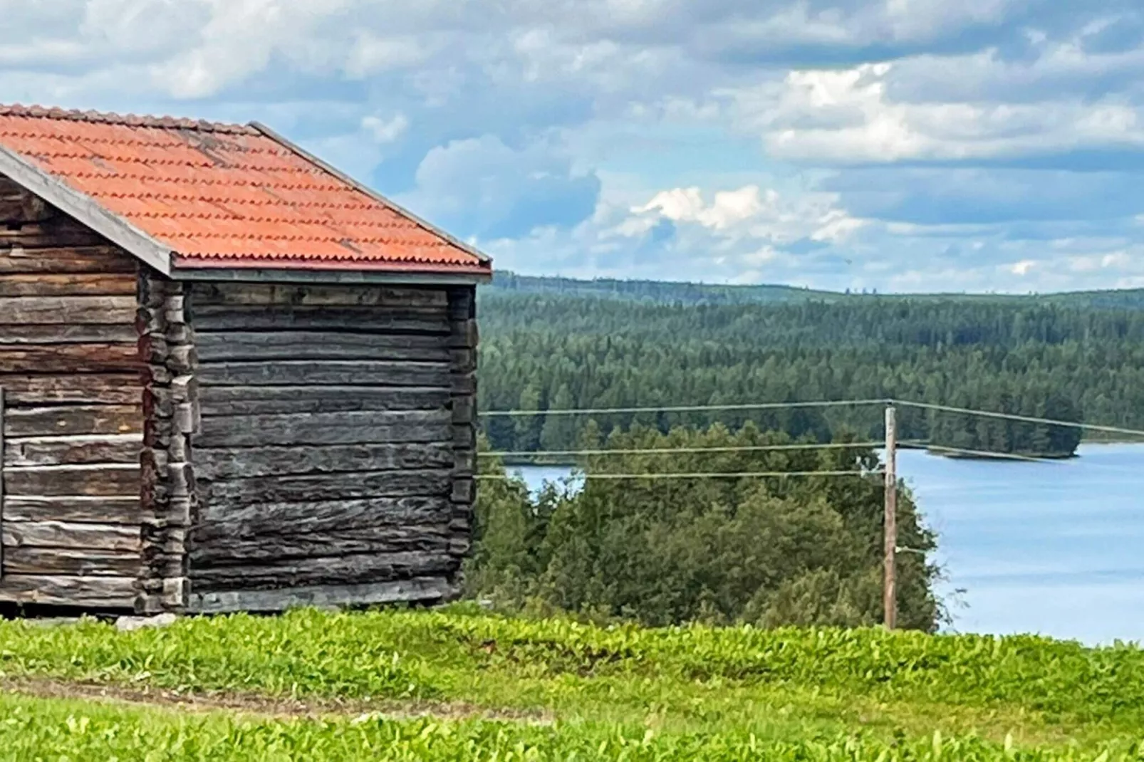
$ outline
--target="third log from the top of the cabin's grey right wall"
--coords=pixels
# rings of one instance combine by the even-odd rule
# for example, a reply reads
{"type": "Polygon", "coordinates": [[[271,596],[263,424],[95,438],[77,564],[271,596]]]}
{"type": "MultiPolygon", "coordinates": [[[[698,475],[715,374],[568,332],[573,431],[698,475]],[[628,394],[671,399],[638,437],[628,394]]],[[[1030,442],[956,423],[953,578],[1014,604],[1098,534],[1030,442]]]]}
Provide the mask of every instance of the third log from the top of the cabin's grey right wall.
{"type": "Polygon", "coordinates": [[[199,332],[199,359],[383,359],[445,363],[448,348],[440,336],[416,334],[301,332],[199,332]]]}

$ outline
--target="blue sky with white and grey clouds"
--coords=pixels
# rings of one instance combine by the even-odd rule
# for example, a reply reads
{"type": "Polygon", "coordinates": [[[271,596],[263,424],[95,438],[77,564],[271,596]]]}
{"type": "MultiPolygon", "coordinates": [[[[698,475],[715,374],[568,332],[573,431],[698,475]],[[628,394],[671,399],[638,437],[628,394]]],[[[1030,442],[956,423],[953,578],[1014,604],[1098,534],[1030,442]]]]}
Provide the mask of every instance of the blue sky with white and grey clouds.
{"type": "Polygon", "coordinates": [[[263,121],[493,256],[1144,287],[1139,0],[0,0],[0,102],[263,121]]]}

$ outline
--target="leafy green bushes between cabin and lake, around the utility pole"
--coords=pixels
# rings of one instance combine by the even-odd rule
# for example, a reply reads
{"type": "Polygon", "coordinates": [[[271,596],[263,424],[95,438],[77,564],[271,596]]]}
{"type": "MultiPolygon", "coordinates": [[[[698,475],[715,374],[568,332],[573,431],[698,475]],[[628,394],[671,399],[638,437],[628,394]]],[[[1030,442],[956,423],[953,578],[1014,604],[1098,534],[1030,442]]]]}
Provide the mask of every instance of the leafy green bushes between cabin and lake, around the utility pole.
{"type": "MultiPolygon", "coordinates": [[[[852,439],[851,439],[852,440],[852,439]]],[[[590,431],[586,449],[601,447],[590,431]]],[[[873,470],[877,454],[851,450],[736,451],[791,444],[748,423],[739,431],[615,431],[613,451],[716,449],[590,457],[591,475],[873,470]]],[[[485,476],[502,466],[482,459],[485,476]]],[[[516,479],[486,478],[477,499],[471,596],[507,610],[565,611],[646,625],[684,621],[865,626],[882,620],[881,476],[594,479],[574,494],[532,498],[516,479]]],[[[909,491],[898,497],[900,626],[942,621],[936,538],[909,491]]]]}

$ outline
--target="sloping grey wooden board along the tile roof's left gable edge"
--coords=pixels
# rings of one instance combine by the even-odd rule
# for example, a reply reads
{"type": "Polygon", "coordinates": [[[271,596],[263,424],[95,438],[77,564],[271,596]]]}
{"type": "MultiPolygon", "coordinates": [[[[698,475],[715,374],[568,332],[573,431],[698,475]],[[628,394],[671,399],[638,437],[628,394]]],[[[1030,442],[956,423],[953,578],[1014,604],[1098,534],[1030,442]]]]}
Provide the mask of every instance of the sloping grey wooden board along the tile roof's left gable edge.
{"type": "Polygon", "coordinates": [[[169,246],[3,145],[0,145],[0,174],[8,176],[29,192],[35,193],[162,275],[170,275],[173,252],[169,246]]]}

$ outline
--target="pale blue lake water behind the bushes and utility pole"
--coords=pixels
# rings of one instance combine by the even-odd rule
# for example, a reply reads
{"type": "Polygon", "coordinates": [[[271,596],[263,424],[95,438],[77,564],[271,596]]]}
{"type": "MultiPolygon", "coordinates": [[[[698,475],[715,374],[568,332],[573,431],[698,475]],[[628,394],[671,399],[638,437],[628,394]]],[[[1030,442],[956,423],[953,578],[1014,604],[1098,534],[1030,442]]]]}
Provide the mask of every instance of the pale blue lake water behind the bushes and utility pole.
{"type": "MultiPolygon", "coordinates": [[[[1041,463],[899,452],[899,474],[938,533],[948,629],[1144,641],[1144,445],[1079,454],[1041,463]]],[[[534,490],[570,474],[511,470],[534,490]]]]}

